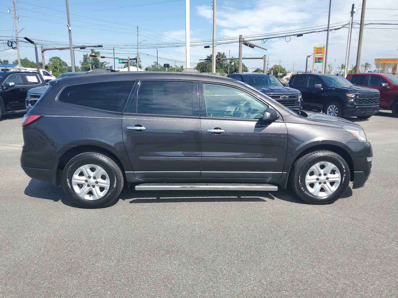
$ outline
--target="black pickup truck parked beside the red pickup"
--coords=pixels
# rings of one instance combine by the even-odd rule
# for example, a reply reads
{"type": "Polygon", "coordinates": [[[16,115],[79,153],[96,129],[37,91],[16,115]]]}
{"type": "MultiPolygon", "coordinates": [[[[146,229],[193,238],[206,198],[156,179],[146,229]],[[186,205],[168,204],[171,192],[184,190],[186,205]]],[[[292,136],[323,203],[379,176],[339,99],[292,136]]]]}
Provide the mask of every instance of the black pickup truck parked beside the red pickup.
{"type": "Polygon", "coordinates": [[[289,86],[301,91],[304,109],[360,119],[370,118],[379,110],[380,92],[355,86],[339,75],[295,74],[289,86]]]}

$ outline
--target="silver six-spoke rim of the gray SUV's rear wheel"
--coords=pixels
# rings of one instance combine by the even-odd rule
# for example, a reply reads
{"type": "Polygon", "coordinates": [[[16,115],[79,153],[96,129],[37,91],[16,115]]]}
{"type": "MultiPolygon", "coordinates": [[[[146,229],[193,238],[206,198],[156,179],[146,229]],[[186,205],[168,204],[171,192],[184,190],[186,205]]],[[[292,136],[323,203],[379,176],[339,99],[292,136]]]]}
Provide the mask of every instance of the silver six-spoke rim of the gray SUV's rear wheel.
{"type": "Polygon", "coordinates": [[[98,200],[107,194],[111,182],[107,172],[96,164],[80,166],[72,176],[72,188],[81,198],[98,200]]]}

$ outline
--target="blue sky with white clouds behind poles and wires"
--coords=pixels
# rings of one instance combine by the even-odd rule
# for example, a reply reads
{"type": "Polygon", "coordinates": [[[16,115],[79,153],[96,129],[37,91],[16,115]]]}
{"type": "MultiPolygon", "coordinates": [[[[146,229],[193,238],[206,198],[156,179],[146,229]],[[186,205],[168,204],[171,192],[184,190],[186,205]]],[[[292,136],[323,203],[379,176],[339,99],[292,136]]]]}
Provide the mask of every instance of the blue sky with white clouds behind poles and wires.
{"type": "MultiPolygon", "coordinates": [[[[191,41],[208,40],[212,38],[212,10],[211,0],[191,0],[191,41]]],[[[361,7],[361,0],[332,0],[331,23],[349,21],[351,4],[361,7]]],[[[300,29],[312,26],[326,25],[328,21],[327,0],[275,0],[236,1],[217,0],[217,38],[238,37],[262,33],[279,32],[300,29]]],[[[67,46],[68,30],[66,28],[65,2],[48,0],[23,0],[17,1],[17,14],[20,22],[17,23],[20,37],[29,37],[33,40],[43,40],[46,45],[67,46]]],[[[153,63],[156,58],[156,49],[148,44],[181,42],[185,41],[185,0],[147,0],[142,1],[88,1],[69,0],[70,18],[72,25],[72,39],[74,45],[104,45],[101,54],[112,56],[109,48],[115,46],[115,56],[135,56],[137,48],[137,26],[139,26],[139,40],[142,49],[139,50],[143,66],[153,63]],[[167,2],[166,2],[167,1],[167,2]],[[166,2],[166,3],[161,3],[166,2]]],[[[15,36],[12,11],[7,14],[7,9],[12,8],[12,0],[0,2],[0,39],[15,36]]],[[[396,0],[368,0],[367,8],[390,8],[389,10],[367,9],[365,21],[392,22],[398,24],[398,3],[396,0]],[[394,9],[394,10],[392,10],[394,9]]],[[[359,22],[360,10],[354,15],[354,21],[359,22]]],[[[357,27],[357,26],[356,26],[357,27]]],[[[398,25],[369,25],[391,29],[365,29],[363,36],[363,49],[361,64],[369,62],[373,65],[375,57],[398,56],[398,41],[396,39],[398,25]]],[[[366,28],[366,27],[365,27],[366,28]]],[[[355,64],[357,54],[357,41],[359,29],[353,29],[351,41],[351,54],[349,65],[355,64]]],[[[345,61],[345,47],[347,44],[348,29],[340,29],[330,33],[330,48],[328,62],[336,66],[345,61]]],[[[289,39],[287,39],[289,40],[289,39]]],[[[40,42],[38,42],[40,43],[40,42]]],[[[261,44],[261,41],[256,41],[261,44]]],[[[303,37],[291,37],[289,42],[285,39],[269,39],[265,43],[267,51],[243,47],[244,56],[269,56],[269,65],[279,64],[291,70],[303,70],[305,57],[312,52],[313,46],[326,44],[326,32],[312,33],[303,37]]],[[[263,45],[264,46],[264,45],[263,45]]],[[[238,44],[220,45],[217,51],[223,51],[228,56],[238,56],[238,44]]],[[[76,50],[76,64],[82,55],[89,50],[76,50]]],[[[34,50],[31,47],[20,49],[21,58],[27,57],[34,60],[34,50]]],[[[203,45],[191,47],[191,62],[205,58],[211,49],[203,45]]],[[[40,55],[40,53],[39,53],[40,55]]],[[[177,64],[185,61],[184,47],[158,48],[161,64],[177,64]],[[181,62],[178,62],[181,61],[181,62]]],[[[70,65],[70,55],[66,50],[52,50],[45,52],[46,62],[52,56],[59,56],[70,65]]],[[[16,59],[16,50],[7,49],[0,43],[0,58],[13,61],[16,59]]],[[[113,65],[113,60],[107,59],[113,65]]],[[[244,61],[252,68],[262,67],[261,60],[244,61]]],[[[195,64],[191,65],[194,67],[195,64]]],[[[116,68],[118,64],[116,64],[116,68]]],[[[310,65],[311,68],[311,65],[310,65]]]]}

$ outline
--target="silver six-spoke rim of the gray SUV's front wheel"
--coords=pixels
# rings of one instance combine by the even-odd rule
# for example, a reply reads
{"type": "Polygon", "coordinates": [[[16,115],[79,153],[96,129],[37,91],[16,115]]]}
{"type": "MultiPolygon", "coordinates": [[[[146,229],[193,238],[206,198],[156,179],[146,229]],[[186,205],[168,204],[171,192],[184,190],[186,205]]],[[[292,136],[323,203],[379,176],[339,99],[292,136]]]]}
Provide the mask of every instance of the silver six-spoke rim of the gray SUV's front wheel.
{"type": "Polygon", "coordinates": [[[333,194],[341,183],[341,174],[337,166],[328,161],[316,163],[310,167],[305,176],[308,192],[317,197],[333,194]]]}

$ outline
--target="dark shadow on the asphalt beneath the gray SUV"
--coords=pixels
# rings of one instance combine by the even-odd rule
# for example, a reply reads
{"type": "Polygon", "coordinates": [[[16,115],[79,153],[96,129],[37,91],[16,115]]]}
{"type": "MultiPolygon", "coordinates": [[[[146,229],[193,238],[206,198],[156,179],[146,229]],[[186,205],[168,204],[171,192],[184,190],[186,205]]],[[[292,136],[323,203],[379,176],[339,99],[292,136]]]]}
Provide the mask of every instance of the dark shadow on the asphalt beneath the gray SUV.
{"type": "MultiPolygon", "coordinates": [[[[31,179],[25,188],[25,195],[38,199],[47,199],[54,202],[61,201],[67,206],[83,208],[66,198],[61,187],[56,188],[51,183],[31,179]]],[[[348,188],[341,197],[351,197],[352,190],[348,188]]],[[[131,200],[129,203],[186,203],[186,202],[267,202],[275,199],[289,203],[306,204],[301,201],[293,191],[279,189],[277,192],[267,191],[138,191],[134,186],[125,187],[120,194],[123,201],[131,200]]]]}

